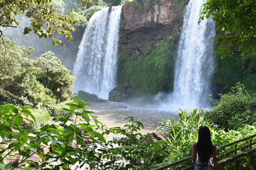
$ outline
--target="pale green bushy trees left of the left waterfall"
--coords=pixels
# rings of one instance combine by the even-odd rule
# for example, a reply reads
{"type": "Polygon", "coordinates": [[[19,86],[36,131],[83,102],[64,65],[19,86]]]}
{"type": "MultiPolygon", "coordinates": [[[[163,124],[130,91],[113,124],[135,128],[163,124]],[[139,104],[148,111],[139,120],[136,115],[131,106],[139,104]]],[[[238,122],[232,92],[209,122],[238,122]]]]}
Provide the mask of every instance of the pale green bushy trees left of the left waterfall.
{"type": "Polygon", "coordinates": [[[32,48],[6,38],[0,48],[0,104],[43,107],[53,112],[56,98],[63,101],[72,93],[74,77],[50,52],[31,60],[32,48]]]}

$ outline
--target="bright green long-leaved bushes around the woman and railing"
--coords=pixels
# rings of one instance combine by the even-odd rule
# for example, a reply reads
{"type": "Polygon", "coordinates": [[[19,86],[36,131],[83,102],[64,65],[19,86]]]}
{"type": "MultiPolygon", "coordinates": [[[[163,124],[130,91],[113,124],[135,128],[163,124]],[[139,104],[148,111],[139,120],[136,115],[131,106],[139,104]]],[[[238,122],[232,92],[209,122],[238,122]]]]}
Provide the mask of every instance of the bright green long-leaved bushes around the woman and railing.
{"type": "MultiPolygon", "coordinates": [[[[205,111],[202,109],[194,109],[192,113],[187,113],[186,111],[178,112],[178,120],[175,121],[174,118],[169,120],[163,120],[161,126],[159,127],[160,132],[164,135],[168,135],[166,144],[170,149],[169,155],[164,159],[162,165],[171,164],[180,159],[190,157],[192,154],[192,145],[198,140],[198,130],[201,125],[206,125],[210,129],[211,139],[214,145],[221,147],[227,145],[230,142],[235,142],[241,140],[245,137],[255,135],[256,133],[256,124],[253,125],[243,125],[238,130],[222,130],[217,128],[213,123],[210,123],[204,118],[205,111]]],[[[240,142],[238,147],[247,145],[250,141],[240,142]]],[[[219,154],[223,154],[228,150],[234,149],[234,145],[221,149],[219,154]]],[[[242,152],[238,151],[238,152],[242,152]]],[[[230,157],[231,154],[226,155],[225,157],[230,157]]],[[[221,157],[221,159],[225,159],[221,157]]],[[[219,159],[219,161],[221,160],[219,159]]],[[[176,166],[172,166],[170,169],[182,169],[184,167],[190,166],[191,162],[183,162],[176,166]]],[[[160,166],[160,165],[159,165],[160,166]]],[[[225,167],[226,168],[226,167],[225,167]]],[[[228,164],[228,169],[234,169],[233,164],[228,164]]]]}

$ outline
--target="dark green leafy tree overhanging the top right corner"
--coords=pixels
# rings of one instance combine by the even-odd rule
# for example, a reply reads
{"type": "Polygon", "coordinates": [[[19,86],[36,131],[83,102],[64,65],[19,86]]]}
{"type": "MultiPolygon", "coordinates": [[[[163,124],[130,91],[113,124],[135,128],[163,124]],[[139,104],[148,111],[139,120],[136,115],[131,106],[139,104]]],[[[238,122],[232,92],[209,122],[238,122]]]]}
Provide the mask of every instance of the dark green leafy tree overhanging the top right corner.
{"type": "Polygon", "coordinates": [[[211,15],[218,29],[215,41],[224,55],[232,53],[233,45],[242,56],[256,50],[255,0],[207,0],[201,19],[211,15]]]}

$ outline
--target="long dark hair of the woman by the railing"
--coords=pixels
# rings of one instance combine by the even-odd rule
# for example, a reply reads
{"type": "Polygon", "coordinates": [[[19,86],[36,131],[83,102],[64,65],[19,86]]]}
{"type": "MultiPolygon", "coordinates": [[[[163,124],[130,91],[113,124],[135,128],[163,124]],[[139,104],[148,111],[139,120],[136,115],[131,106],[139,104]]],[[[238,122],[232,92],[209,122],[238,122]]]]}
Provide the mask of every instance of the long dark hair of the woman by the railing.
{"type": "Polygon", "coordinates": [[[201,126],[199,128],[196,147],[201,164],[208,164],[208,160],[213,154],[213,144],[210,140],[210,130],[208,127],[201,126]]]}

